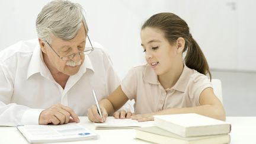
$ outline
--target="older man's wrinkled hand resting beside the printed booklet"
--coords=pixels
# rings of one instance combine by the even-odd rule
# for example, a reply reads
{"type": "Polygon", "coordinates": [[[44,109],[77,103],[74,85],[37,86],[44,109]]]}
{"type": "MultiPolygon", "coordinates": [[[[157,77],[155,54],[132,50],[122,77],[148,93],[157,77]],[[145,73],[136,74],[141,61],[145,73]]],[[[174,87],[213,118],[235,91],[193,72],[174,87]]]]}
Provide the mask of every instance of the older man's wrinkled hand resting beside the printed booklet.
{"type": "Polygon", "coordinates": [[[70,107],[62,104],[56,104],[43,110],[39,116],[39,124],[79,123],[79,121],[76,113],[70,107]]]}

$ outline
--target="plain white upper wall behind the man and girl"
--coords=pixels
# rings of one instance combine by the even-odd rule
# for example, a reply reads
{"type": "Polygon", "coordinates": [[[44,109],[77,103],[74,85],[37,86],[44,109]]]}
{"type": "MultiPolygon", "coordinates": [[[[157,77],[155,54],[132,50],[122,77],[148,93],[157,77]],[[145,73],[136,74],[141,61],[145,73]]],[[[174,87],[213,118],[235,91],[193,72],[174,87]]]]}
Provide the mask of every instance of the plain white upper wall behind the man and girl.
{"type": "MultiPolygon", "coordinates": [[[[36,17],[47,2],[49,1],[0,0],[0,50],[20,40],[37,37],[36,17]]],[[[256,73],[256,1],[73,2],[84,7],[89,37],[106,47],[120,78],[132,66],[145,62],[140,46],[140,27],[146,19],[158,12],[174,12],[187,21],[191,34],[201,46],[213,71],[256,73]]]]}

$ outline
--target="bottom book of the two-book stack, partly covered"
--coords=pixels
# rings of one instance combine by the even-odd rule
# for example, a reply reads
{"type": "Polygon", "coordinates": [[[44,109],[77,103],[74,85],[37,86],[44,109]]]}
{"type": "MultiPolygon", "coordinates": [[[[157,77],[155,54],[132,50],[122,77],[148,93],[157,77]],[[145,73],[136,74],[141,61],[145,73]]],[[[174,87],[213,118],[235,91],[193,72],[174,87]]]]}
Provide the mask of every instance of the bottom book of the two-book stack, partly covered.
{"type": "Polygon", "coordinates": [[[230,136],[212,135],[197,137],[182,137],[156,126],[135,128],[136,138],[153,143],[175,143],[175,144],[218,144],[230,143],[230,136]]]}

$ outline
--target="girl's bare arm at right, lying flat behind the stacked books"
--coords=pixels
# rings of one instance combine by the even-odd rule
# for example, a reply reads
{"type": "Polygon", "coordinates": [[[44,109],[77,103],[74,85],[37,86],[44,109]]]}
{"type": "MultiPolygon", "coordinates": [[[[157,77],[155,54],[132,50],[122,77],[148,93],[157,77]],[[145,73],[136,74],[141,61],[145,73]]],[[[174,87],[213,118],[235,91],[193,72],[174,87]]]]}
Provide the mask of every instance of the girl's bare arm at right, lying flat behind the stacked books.
{"type": "Polygon", "coordinates": [[[153,120],[153,115],[160,114],[181,114],[181,113],[197,113],[203,116],[212,117],[225,121],[226,114],[222,103],[215,96],[212,88],[204,89],[199,97],[200,105],[197,107],[184,107],[184,108],[169,108],[166,110],[158,111],[149,114],[136,114],[132,119],[138,121],[153,120]]]}

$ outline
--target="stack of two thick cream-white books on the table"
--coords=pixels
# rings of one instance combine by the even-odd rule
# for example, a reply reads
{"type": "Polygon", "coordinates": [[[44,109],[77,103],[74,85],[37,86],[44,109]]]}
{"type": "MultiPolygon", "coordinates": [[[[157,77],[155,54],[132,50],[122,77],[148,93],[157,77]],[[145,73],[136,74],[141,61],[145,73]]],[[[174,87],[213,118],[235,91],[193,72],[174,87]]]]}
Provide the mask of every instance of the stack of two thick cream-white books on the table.
{"type": "Polygon", "coordinates": [[[151,127],[136,128],[136,138],[153,143],[230,143],[231,124],[199,114],[154,116],[151,127]]]}

